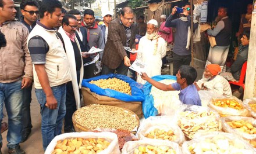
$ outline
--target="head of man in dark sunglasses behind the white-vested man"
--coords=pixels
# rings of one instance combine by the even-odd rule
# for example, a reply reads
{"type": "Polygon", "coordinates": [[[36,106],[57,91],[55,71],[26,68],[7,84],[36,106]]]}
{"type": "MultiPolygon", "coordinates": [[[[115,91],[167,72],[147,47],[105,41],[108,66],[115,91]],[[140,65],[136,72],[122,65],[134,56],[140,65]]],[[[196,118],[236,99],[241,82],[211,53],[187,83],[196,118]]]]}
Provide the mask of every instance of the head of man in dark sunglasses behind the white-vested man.
{"type": "Polygon", "coordinates": [[[35,21],[38,19],[38,8],[39,4],[35,0],[27,0],[20,3],[20,10],[22,12],[20,21],[26,25],[29,32],[31,32],[37,24],[35,21]]]}

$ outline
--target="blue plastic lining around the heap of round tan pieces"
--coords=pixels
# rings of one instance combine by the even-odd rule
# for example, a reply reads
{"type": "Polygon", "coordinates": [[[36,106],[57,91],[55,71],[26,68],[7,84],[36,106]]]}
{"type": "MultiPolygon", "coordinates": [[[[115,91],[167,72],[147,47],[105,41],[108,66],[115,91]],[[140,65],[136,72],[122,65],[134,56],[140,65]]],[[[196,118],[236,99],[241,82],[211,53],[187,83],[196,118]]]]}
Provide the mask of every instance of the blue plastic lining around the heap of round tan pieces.
{"type": "Polygon", "coordinates": [[[99,94],[101,96],[108,96],[108,97],[116,98],[121,101],[129,102],[129,101],[144,101],[145,100],[144,93],[141,90],[143,88],[143,85],[135,82],[133,79],[131,79],[125,75],[108,74],[108,75],[96,76],[96,77],[90,78],[90,79],[83,79],[82,86],[88,87],[92,92],[99,94]],[[120,93],[119,91],[112,90],[112,89],[102,89],[101,87],[98,87],[94,84],[89,83],[91,80],[108,79],[108,78],[118,78],[120,80],[123,80],[123,81],[129,83],[129,85],[131,87],[131,96],[129,94],[120,93]]]}

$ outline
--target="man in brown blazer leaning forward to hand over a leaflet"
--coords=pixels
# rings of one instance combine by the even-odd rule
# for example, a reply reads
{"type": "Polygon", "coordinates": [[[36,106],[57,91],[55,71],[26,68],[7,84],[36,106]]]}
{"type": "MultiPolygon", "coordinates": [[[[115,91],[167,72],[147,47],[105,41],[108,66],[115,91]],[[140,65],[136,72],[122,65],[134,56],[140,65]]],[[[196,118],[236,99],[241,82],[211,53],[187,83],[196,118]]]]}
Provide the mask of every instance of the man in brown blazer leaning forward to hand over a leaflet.
{"type": "Polygon", "coordinates": [[[127,75],[130,67],[130,53],[124,48],[135,50],[136,26],[133,24],[133,10],[125,7],[121,10],[120,19],[115,19],[109,24],[108,41],[102,57],[102,74],[127,75]]]}

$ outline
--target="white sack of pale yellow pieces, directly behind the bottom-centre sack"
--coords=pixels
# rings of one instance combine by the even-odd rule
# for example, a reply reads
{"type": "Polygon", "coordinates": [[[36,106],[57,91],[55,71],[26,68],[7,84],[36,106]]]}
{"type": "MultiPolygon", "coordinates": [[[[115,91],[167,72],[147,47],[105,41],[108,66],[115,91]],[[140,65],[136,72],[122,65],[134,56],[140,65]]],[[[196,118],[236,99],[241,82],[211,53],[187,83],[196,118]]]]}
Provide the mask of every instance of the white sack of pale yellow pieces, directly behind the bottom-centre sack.
{"type": "Polygon", "coordinates": [[[168,140],[182,145],[185,140],[184,134],[172,118],[172,116],[150,116],[139,127],[138,138],[168,140]]]}

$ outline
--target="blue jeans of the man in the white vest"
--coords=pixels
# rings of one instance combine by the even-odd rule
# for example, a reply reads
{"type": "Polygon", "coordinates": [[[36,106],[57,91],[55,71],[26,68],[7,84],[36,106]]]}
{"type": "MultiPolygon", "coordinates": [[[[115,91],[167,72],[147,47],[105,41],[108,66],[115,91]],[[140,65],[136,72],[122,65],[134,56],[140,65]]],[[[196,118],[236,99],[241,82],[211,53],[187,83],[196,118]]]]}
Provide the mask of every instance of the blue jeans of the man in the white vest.
{"type": "Polygon", "coordinates": [[[46,96],[44,90],[35,89],[35,95],[41,106],[41,132],[42,132],[42,146],[44,150],[56,135],[61,134],[63,118],[66,114],[66,85],[51,87],[52,93],[58,102],[57,109],[49,109],[45,106],[46,96]]]}

